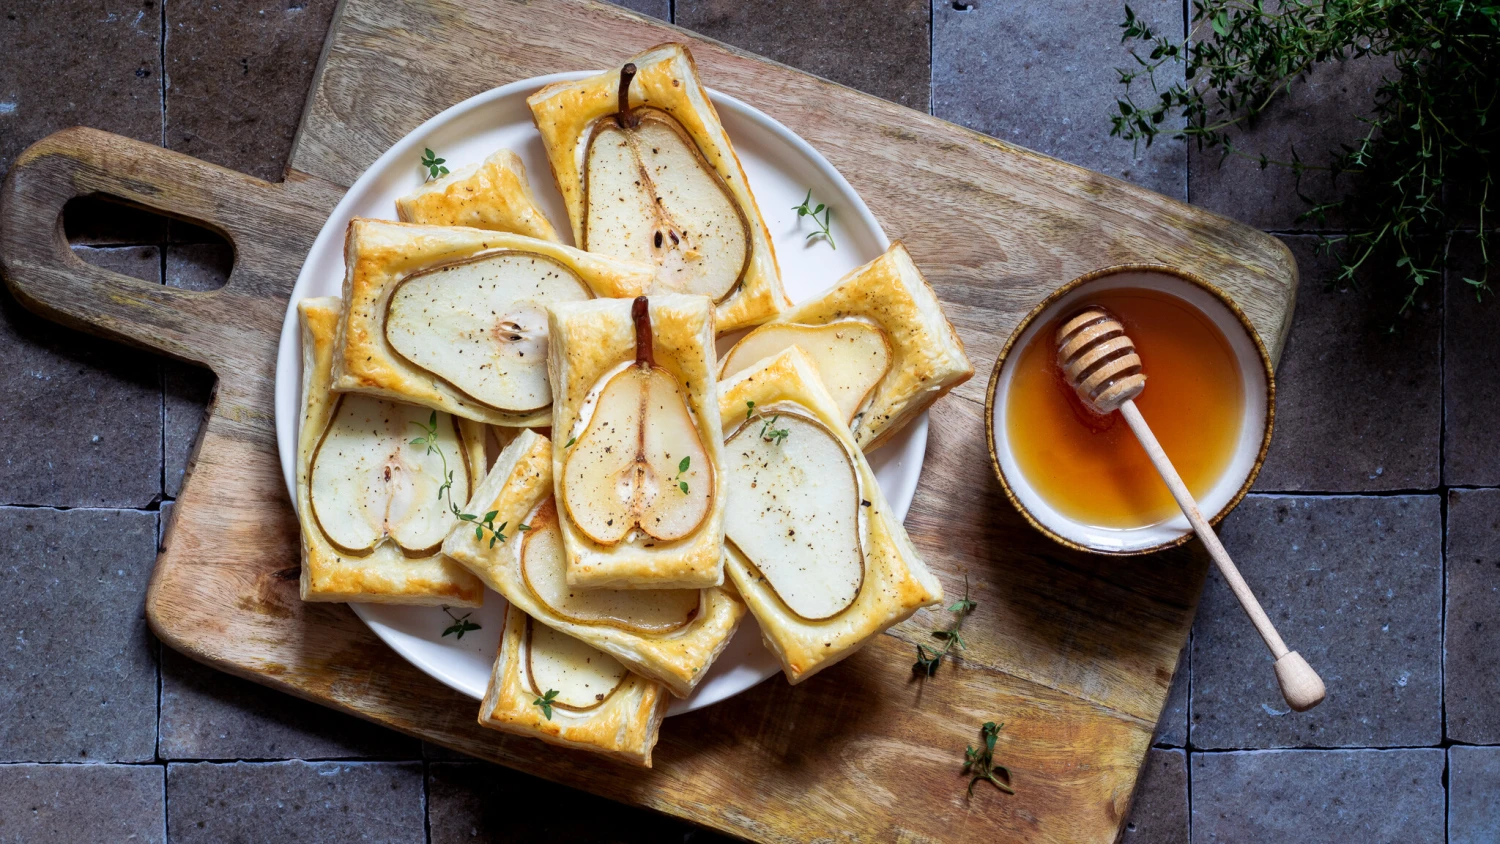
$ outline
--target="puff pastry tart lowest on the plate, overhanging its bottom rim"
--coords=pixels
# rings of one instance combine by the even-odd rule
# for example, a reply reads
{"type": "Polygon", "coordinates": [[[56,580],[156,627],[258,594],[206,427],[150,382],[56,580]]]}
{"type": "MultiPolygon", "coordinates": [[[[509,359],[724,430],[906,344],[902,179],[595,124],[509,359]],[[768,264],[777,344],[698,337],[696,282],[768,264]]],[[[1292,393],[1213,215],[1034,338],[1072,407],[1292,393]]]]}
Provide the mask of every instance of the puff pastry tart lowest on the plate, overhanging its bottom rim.
{"type": "Polygon", "coordinates": [[[664,685],[512,606],[478,723],[651,768],[670,700],[664,685]]]}

